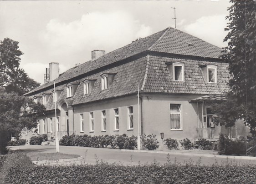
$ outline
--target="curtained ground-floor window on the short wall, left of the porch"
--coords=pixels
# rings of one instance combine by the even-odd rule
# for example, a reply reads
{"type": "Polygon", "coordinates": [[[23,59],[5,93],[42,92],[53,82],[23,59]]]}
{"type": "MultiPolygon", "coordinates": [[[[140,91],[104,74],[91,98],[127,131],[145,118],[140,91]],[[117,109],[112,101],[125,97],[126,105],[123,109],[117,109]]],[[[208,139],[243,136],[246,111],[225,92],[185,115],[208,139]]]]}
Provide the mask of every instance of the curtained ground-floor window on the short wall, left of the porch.
{"type": "Polygon", "coordinates": [[[171,130],[181,130],[181,104],[170,104],[171,130]]]}

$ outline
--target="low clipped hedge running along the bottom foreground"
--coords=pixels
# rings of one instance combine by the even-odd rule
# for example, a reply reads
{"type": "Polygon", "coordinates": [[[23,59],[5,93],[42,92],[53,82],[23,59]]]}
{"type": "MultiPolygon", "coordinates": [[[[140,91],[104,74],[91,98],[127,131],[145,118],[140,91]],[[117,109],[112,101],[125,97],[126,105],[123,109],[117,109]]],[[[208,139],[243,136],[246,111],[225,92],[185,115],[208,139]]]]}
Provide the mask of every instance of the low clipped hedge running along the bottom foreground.
{"type": "Polygon", "coordinates": [[[97,164],[80,166],[35,166],[13,168],[6,184],[249,184],[256,181],[254,166],[140,165],[97,164]]]}

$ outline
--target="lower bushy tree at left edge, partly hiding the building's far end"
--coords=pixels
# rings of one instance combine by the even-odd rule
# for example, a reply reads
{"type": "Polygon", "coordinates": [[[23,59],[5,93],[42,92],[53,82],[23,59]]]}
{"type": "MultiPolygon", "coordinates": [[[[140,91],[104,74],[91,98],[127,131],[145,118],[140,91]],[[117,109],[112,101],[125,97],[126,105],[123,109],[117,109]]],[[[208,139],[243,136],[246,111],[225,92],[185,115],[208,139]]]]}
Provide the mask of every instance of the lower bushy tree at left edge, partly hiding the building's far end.
{"type": "Polygon", "coordinates": [[[19,137],[24,129],[36,128],[36,119],[45,107],[33,99],[0,90],[0,153],[7,152],[7,142],[11,134],[19,137]]]}

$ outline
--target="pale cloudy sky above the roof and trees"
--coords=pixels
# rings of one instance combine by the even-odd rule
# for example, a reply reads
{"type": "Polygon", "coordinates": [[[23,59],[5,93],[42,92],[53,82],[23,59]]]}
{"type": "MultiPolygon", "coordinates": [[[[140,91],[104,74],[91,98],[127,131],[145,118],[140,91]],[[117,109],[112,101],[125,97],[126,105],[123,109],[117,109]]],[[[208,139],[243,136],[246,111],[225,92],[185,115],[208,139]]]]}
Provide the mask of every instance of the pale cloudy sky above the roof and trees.
{"type": "Polygon", "coordinates": [[[174,25],[213,45],[225,47],[229,0],[0,1],[0,40],[19,41],[20,67],[43,83],[45,68],[60,73],[174,25]]]}

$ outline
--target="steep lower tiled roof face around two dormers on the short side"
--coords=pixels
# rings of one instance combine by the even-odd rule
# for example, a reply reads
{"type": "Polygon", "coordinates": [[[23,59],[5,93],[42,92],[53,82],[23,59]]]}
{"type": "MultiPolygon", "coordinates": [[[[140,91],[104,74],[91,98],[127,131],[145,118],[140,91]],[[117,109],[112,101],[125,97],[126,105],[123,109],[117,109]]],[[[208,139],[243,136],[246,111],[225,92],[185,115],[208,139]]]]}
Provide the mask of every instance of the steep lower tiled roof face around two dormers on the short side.
{"type": "Polygon", "coordinates": [[[189,60],[150,56],[148,74],[143,91],[180,94],[225,94],[229,90],[226,85],[229,80],[228,64],[207,60],[189,60]],[[184,82],[173,81],[167,68],[167,62],[184,63],[184,82]],[[199,65],[217,65],[217,84],[206,82],[199,65]]]}

